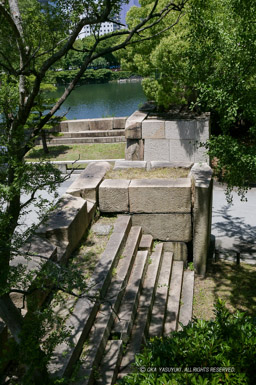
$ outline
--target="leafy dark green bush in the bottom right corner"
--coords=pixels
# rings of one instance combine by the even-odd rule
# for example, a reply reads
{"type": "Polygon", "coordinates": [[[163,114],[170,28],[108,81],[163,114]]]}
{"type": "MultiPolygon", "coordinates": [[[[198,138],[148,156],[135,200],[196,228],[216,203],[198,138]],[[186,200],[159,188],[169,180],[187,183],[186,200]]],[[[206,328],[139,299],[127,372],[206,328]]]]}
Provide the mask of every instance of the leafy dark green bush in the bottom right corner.
{"type": "Polygon", "coordinates": [[[137,370],[124,377],[122,384],[256,384],[255,348],[256,319],[239,311],[231,314],[218,301],[215,320],[194,319],[170,337],[151,339],[136,356],[135,367],[176,367],[182,368],[180,373],[137,370]],[[227,367],[234,372],[210,372],[227,367]],[[198,368],[198,373],[185,372],[185,368],[198,368]]]}

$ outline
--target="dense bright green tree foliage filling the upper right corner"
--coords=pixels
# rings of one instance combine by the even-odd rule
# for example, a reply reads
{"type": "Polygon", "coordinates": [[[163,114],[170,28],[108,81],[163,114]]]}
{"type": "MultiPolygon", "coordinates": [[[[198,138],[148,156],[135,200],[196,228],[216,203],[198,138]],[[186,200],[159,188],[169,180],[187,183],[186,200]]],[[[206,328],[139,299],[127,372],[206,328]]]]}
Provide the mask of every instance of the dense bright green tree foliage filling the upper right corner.
{"type": "MultiPolygon", "coordinates": [[[[149,4],[143,1],[139,12],[131,10],[130,22],[149,4]]],[[[145,34],[174,21],[171,14],[145,34]]],[[[173,29],[121,53],[123,68],[145,77],[146,96],[160,110],[174,104],[211,112],[212,132],[223,137],[210,140],[209,154],[219,159],[216,172],[222,167],[228,194],[240,186],[242,197],[256,173],[255,52],[255,2],[191,0],[173,29]]]]}

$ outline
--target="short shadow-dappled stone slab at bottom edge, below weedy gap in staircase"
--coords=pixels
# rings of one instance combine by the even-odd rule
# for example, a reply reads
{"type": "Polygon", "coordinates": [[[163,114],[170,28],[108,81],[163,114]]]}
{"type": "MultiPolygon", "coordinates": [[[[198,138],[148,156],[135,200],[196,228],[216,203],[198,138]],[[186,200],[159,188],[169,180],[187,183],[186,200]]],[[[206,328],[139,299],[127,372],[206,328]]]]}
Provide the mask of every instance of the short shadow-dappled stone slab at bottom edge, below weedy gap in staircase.
{"type": "Polygon", "coordinates": [[[112,385],[115,383],[122,354],[123,341],[109,340],[105,355],[101,361],[99,379],[95,381],[96,385],[112,385]]]}

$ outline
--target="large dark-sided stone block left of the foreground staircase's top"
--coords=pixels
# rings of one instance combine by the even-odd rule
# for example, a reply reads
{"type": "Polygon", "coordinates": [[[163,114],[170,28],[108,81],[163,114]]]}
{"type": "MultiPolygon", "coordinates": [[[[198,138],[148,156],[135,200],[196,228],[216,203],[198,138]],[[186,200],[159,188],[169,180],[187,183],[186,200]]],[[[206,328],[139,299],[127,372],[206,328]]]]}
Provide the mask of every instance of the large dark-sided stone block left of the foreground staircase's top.
{"type": "Polygon", "coordinates": [[[88,226],[87,202],[80,197],[64,194],[57,207],[37,233],[53,244],[69,244],[70,250],[74,250],[88,226]]]}

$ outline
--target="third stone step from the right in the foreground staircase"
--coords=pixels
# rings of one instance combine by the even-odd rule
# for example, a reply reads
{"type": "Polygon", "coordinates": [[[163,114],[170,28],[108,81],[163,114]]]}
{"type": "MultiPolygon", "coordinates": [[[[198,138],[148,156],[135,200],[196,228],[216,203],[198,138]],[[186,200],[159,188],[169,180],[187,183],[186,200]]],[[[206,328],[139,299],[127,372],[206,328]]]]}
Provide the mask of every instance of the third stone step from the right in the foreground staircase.
{"type": "Polygon", "coordinates": [[[155,302],[149,327],[149,337],[161,337],[163,334],[172,263],[173,253],[165,252],[156,289],[155,302]]]}

